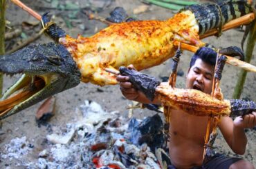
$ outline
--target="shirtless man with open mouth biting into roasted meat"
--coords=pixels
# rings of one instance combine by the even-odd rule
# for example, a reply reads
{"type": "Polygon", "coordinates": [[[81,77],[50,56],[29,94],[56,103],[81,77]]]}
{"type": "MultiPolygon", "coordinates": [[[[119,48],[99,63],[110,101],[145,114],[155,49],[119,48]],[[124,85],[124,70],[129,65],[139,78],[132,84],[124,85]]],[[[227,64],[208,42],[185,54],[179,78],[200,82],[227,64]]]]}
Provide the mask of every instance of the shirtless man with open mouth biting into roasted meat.
{"type": "MultiPolygon", "coordinates": [[[[197,89],[210,94],[216,52],[210,48],[200,48],[192,57],[186,77],[186,88],[197,89]]],[[[129,66],[133,68],[133,66],[129,66]]],[[[161,104],[160,101],[149,101],[142,92],[136,90],[129,82],[129,77],[118,75],[120,90],[129,100],[140,103],[161,104]]],[[[170,168],[201,168],[203,145],[208,117],[189,115],[182,110],[172,110],[170,118],[169,153],[172,166],[170,168]]],[[[230,117],[222,117],[219,129],[233,152],[244,155],[247,138],[245,128],[256,126],[256,112],[234,121],[230,117]]],[[[205,163],[204,168],[254,168],[244,159],[217,156],[205,163]]]]}

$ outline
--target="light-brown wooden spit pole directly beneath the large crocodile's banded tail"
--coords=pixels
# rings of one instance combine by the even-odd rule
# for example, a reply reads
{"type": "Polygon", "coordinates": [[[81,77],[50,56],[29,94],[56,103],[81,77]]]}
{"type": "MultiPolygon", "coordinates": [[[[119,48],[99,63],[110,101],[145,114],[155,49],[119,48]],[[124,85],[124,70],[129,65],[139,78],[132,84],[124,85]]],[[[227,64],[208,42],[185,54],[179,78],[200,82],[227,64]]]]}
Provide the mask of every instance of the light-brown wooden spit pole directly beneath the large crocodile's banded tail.
{"type": "MultiPolygon", "coordinates": [[[[230,30],[232,28],[236,28],[237,26],[246,25],[250,22],[252,22],[255,19],[254,13],[249,13],[244,15],[243,17],[239,17],[237,19],[234,19],[232,21],[229,21],[222,27],[222,31],[230,30]]],[[[200,39],[203,39],[205,37],[210,37],[214,34],[217,34],[218,30],[209,30],[207,33],[200,35],[200,39]]]]}

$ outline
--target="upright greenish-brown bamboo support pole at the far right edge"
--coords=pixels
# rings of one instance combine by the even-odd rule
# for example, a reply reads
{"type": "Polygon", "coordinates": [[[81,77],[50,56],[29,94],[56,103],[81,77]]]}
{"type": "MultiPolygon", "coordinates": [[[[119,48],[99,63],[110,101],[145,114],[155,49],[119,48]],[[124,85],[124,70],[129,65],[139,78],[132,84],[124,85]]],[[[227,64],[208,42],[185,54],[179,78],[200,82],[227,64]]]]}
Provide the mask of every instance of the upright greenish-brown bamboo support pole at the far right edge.
{"type": "MultiPolygon", "coordinates": [[[[245,61],[247,63],[250,63],[250,59],[252,59],[253,57],[253,48],[255,46],[255,41],[256,41],[256,19],[253,21],[252,26],[250,28],[250,32],[248,34],[248,40],[246,44],[246,58],[245,58],[245,61]]],[[[246,75],[247,75],[246,70],[241,70],[239,72],[237,84],[235,86],[235,90],[232,96],[233,99],[239,99],[241,97],[241,92],[243,91],[244,83],[246,81],[246,75]]]]}

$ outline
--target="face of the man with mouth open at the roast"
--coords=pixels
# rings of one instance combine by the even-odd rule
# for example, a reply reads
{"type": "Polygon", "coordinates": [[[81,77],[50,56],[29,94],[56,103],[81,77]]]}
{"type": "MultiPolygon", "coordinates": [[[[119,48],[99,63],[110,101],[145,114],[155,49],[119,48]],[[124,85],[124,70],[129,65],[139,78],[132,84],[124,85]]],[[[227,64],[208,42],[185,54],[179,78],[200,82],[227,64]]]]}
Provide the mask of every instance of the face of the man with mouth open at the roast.
{"type": "Polygon", "coordinates": [[[214,66],[196,59],[194,66],[188,70],[186,88],[196,89],[210,94],[212,92],[212,80],[214,66]]]}

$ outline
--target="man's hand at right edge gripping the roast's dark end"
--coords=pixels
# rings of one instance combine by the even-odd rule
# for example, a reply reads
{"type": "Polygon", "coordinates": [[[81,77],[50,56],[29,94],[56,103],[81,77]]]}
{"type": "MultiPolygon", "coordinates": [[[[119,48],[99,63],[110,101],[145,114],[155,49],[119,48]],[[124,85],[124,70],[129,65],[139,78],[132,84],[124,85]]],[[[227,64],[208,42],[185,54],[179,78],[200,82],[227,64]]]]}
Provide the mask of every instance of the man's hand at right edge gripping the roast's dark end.
{"type": "Polygon", "coordinates": [[[254,128],[256,126],[256,112],[235,118],[234,126],[237,128],[254,128]]]}

